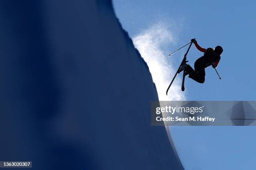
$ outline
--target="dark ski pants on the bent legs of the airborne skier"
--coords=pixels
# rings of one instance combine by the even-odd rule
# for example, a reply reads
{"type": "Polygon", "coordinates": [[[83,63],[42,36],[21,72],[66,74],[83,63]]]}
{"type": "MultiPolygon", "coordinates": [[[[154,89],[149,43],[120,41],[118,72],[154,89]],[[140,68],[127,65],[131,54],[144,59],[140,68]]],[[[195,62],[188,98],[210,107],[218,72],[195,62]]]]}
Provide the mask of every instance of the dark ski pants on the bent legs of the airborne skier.
{"type": "Polygon", "coordinates": [[[202,60],[200,60],[200,58],[195,61],[194,67],[195,67],[195,70],[190,65],[187,65],[187,67],[185,68],[185,71],[189,75],[189,78],[192,78],[193,80],[199,83],[204,83],[205,67],[204,67],[204,63],[202,62],[202,60]]]}

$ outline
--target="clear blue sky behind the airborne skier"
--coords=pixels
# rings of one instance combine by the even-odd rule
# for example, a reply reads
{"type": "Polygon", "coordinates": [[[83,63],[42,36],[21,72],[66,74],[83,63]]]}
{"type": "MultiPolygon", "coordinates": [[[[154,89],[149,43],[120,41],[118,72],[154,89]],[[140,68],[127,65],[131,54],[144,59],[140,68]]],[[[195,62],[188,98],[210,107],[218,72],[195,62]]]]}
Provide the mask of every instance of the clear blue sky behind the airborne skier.
{"type": "MultiPolygon", "coordinates": [[[[222,80],[210,67],[206,69],[204,84],[187,78],[187,100],[256,100],[255,1],[113,0],[113,3],[131,37],[159,21],[176,25],[177,44],[166,50],[166,54],[194,37],[202,47],[223,47],[217,68],[222,80]]],[[[179,63],[180,56],[174,55],[169,60],[179,63]]],[[[202,53],[192,47],[189,64],[193,65],[200,56],[202,53]]],[[[175,146],[188,170],[256,169],[255,130],[255,127],[171,128],[175,146]]]]}

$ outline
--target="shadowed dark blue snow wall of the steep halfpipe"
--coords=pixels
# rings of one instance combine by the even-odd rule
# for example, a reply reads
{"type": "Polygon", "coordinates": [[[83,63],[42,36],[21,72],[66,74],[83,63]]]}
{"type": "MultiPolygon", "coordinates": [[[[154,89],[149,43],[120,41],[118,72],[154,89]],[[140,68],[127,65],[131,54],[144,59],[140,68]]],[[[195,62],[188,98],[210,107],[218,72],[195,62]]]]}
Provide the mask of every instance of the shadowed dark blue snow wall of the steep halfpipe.
{"type": "Polygon", "coordinates": [[[46,169],[183,169],[146,62],[110,0],[0,2],[0,160],[46,169]]]}

